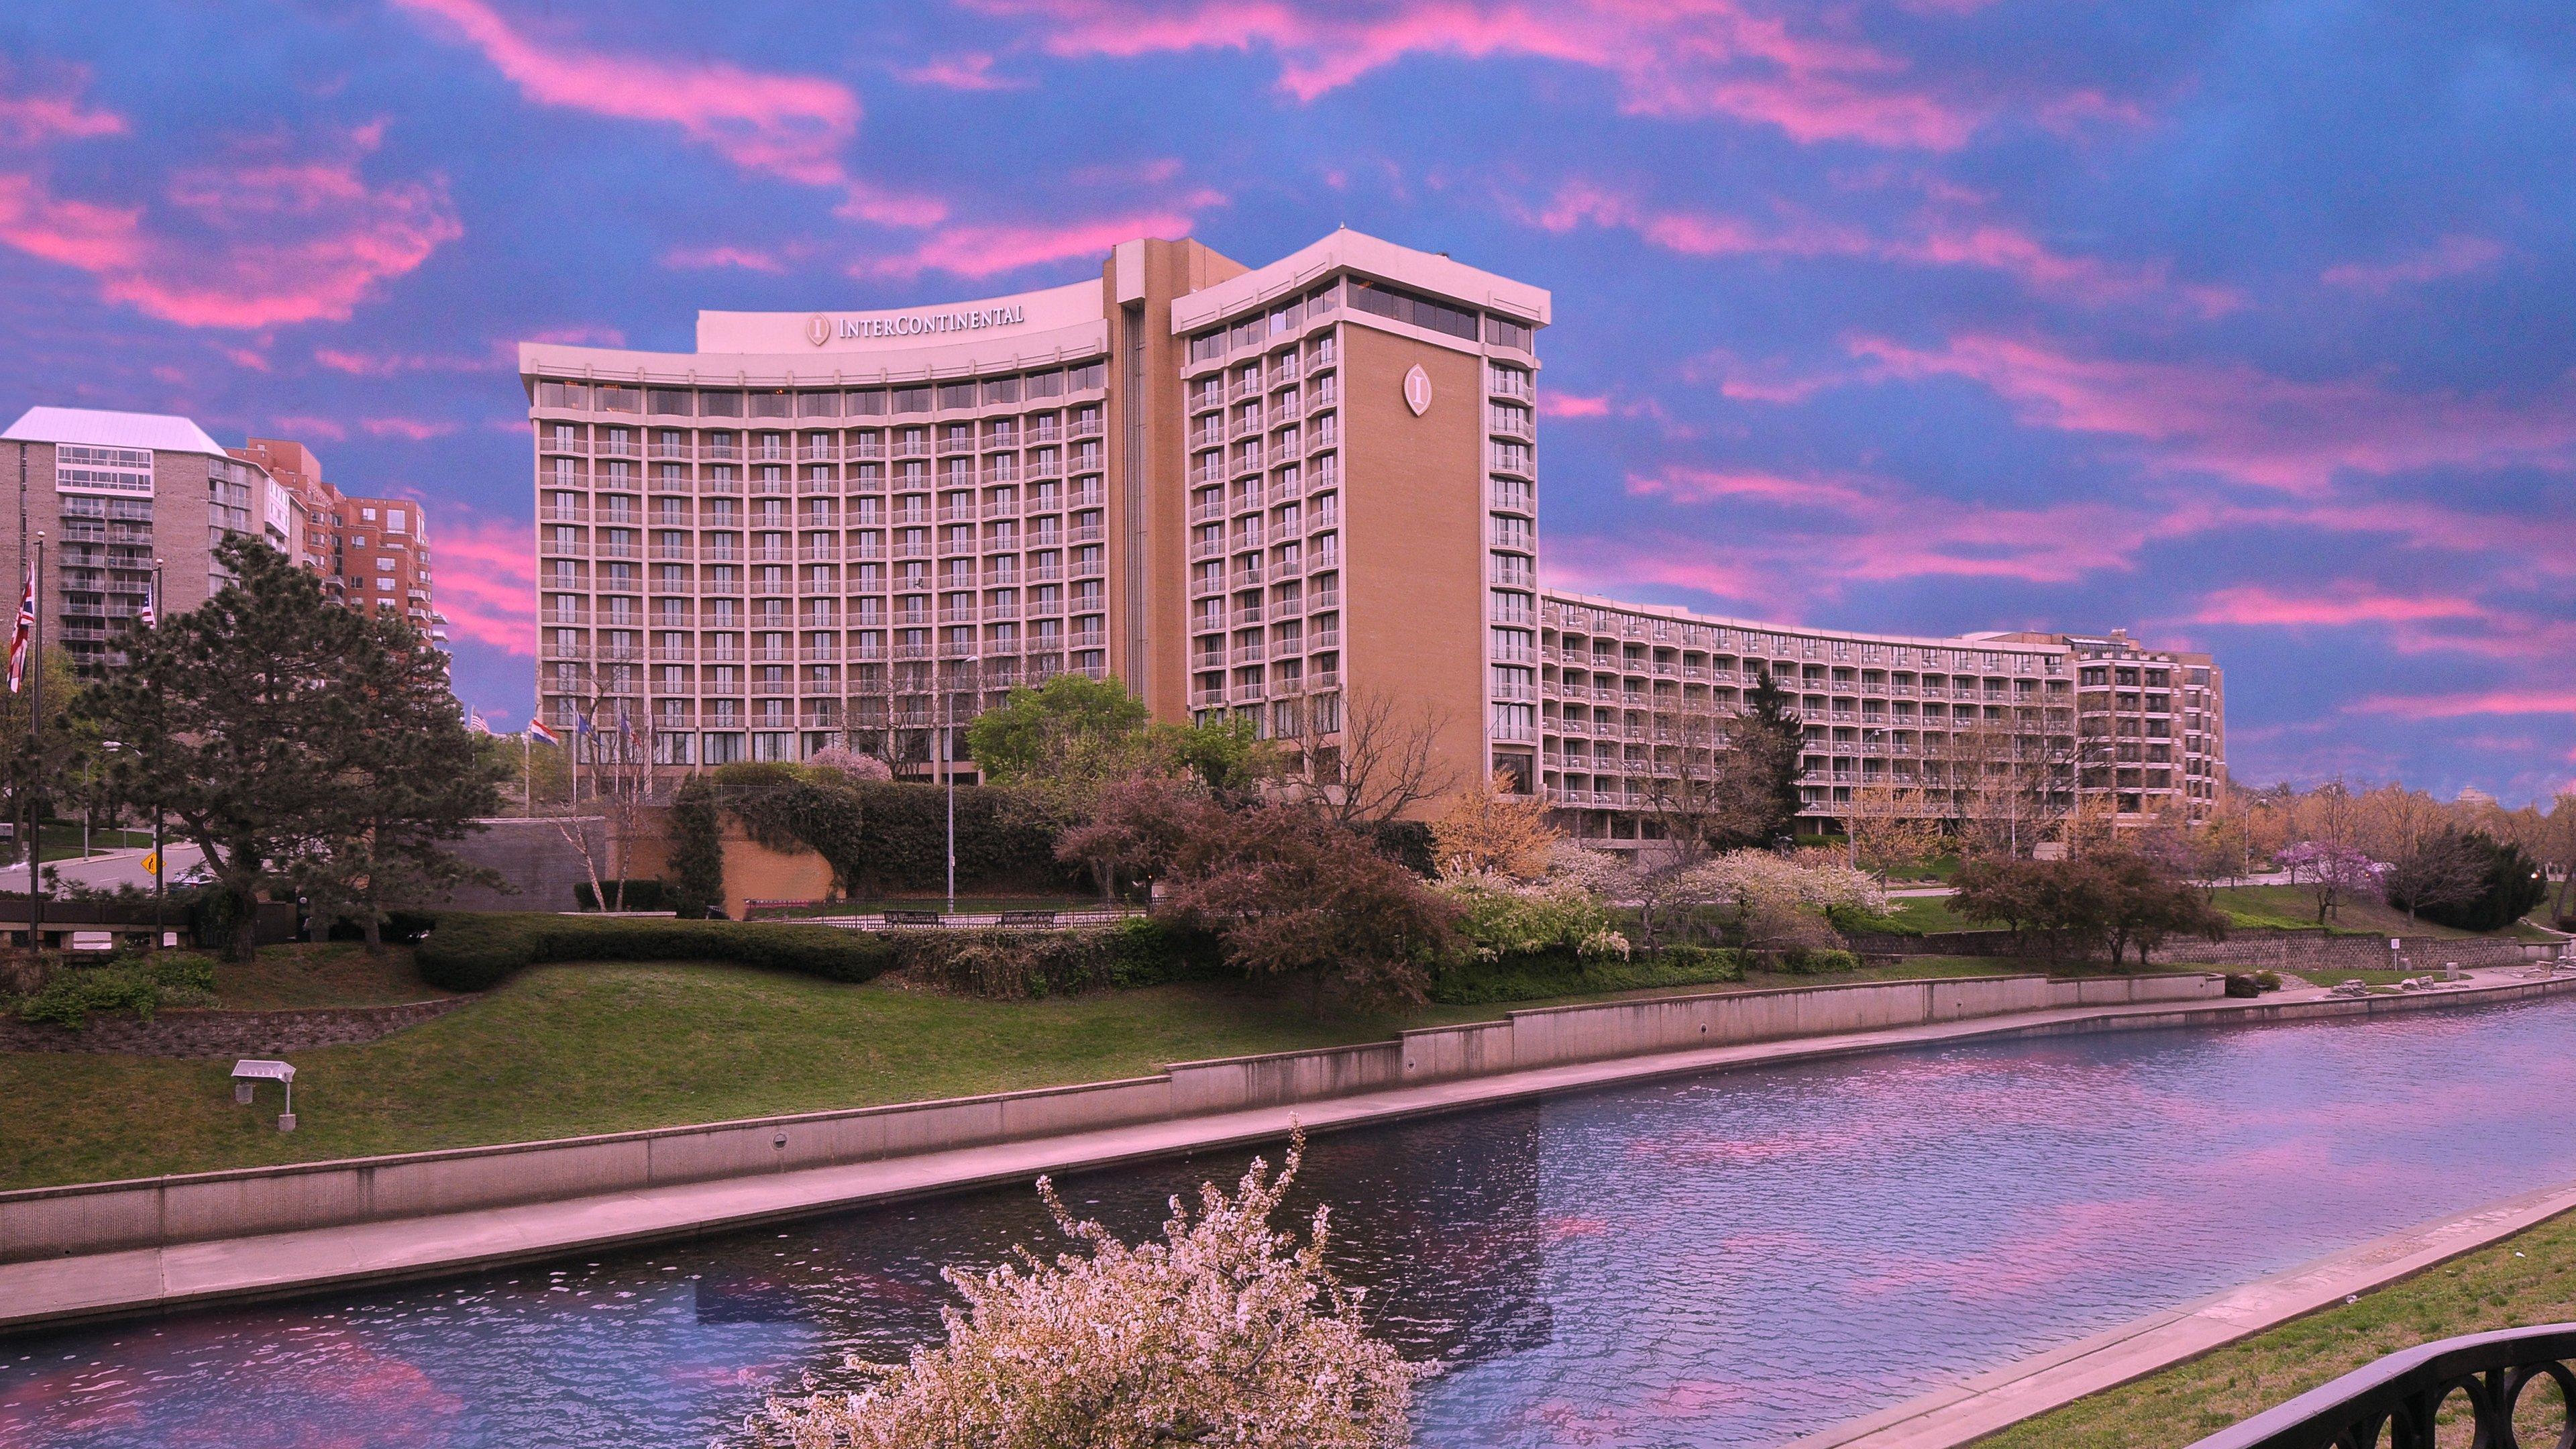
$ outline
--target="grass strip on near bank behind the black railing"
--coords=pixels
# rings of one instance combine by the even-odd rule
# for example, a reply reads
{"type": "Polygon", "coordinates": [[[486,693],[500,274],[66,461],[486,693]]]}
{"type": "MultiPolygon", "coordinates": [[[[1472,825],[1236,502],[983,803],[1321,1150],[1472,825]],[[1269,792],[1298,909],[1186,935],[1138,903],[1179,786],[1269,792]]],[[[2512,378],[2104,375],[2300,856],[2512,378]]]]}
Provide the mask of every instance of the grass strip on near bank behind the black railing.
{"type": "MultiPolygon", "coordinates": [[[[2576,1318],[2576,1214],[2558,1217],[2347,1302],[2285,1323],[2205,1359],[2133,1385],[2076,1400],[2025,1421],[1978,1449],[2179,1449],[2326,1379],[2432,1338],[2530,1328],[2576,1318]]],[[[2535,1413],[2561,1415],[2558,1392],[2535,1385],[2522,1397],[2524,1426],[2535,1413]]],[[[2460,1426],[2465,1431],[2465,1423],[2460,1426]]],[[[2524,1444],[2550,1434],[2524,1431],[2524,1444]]],[[[2445,1439],[2452,1444],[2452,1439],[2445,1439]]],[[[2458,1444],[2468,1444],[2460,1434],[2458,1444]]]]}

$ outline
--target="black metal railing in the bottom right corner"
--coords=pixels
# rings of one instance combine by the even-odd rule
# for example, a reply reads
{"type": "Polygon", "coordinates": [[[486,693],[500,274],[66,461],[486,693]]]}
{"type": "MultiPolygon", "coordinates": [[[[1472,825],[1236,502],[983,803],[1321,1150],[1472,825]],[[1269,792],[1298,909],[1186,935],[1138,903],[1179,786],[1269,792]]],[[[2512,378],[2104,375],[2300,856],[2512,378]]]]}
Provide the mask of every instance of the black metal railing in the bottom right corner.
{"type": "MultiPolygon", "coordinates": [[[[2342,1379],[2267,1408],[2236,1428],[2223,1428],[2192,1449],[2434,1449],[2442,1403],[2460,1397],[2478,1449],[2540,1449],[2514,1434],[2514,1403],[2540,1379],[2553,1379],[2563,1403],[2576,1403],[2576,1323],[2506,1328],[2439,1338],[2342,1379]]],[[[2566,1446],[2571,1434],[2550,1436],[2566,1446]]]]}

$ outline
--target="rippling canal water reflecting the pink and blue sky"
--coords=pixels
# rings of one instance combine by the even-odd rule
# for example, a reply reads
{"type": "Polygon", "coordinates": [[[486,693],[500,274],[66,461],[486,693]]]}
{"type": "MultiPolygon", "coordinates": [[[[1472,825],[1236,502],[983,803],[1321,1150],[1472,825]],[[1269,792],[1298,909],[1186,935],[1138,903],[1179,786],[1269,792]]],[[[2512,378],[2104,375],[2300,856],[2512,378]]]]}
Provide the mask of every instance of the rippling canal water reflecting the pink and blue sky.
{"type": "MultiPolygon", "coordinates": [[[[1909,1049],[1319,1137],[1340,1271],[1443,1364],[1427,1446],[1783,1444],[2576,1178],[2576,1000],[1909,1049]]],[[[1064,1183],[1146,1235],[1211,1152],[1064,1183]]],[[[1273,1160],[1278,1152],[1270,1152],[1273,1160]]],[[[938,1333],[1025,1189],[0,1341],[13,1449],[696,1449],[938,1333]]]]}

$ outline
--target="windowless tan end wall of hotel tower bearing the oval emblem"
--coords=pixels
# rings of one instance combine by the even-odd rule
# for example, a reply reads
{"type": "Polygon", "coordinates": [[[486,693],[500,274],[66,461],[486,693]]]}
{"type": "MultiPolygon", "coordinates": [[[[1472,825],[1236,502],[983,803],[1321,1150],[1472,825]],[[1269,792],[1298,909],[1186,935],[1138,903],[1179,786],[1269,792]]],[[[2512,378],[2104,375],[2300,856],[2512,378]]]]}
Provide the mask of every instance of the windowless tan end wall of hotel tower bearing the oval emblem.
{"type": "MultiPolygon", "coordinates": [[[[1373,696],[1440,719],[1450,786],[1484,758],[1484,361],[1376,327],[1342,327],[1345,714],[1373,696]],[[1432,379],[1414,418],[1404,374],[1432,379]]],[[[1399,717],[1399,727],[1409,724],[1399,717]]],[[[1425,804],[1417,815],[1435,815],[1425,804]]]]}

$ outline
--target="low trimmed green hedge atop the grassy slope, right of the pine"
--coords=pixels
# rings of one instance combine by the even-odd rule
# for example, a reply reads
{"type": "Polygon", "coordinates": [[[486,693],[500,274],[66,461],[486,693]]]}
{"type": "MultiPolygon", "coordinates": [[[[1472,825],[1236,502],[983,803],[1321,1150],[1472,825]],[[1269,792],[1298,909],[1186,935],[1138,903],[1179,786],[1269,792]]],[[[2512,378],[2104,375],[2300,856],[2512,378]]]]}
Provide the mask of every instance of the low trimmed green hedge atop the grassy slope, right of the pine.
{"type": "Polygon", "coordinates": [[[837,926],[446,910],[415,959],[440,990],[487,990],[536,962],[737,962],[863,982],[894,967],[894,944],[837,926]]]}

